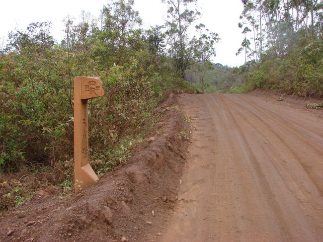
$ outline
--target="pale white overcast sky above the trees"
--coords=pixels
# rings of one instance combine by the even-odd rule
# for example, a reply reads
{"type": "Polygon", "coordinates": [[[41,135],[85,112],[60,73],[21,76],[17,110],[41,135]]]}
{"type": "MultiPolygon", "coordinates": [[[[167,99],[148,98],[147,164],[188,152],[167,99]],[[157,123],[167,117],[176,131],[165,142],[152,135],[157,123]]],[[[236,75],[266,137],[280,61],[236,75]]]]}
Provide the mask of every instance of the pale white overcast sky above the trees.
{"type": "MultiPolygon", "coordinates": [[[[75,18],[82,10],[99,16],[108,0],[4,0],[0,10],[0,39],[14,29],[24,30],[31,22],[51,21],[52,34],[58,41],[63,38],[63,19],[70,14],[75,18]]],[[[238,28],[242,12],[241,0],[198,0],[203,16],[196,23],[204,23],[211,31],[217,32],[221,41],[216,45],[215,63],[228,66],[243,64],[243,56],[236,56],[243,35],[238,28]]],[[[135,0],[134,8],[139,11],[144,27],[163,24],[166,6],[161,0],[135,0]]],[[[191,33],[194,34],[194,33],[191,33]]]]}

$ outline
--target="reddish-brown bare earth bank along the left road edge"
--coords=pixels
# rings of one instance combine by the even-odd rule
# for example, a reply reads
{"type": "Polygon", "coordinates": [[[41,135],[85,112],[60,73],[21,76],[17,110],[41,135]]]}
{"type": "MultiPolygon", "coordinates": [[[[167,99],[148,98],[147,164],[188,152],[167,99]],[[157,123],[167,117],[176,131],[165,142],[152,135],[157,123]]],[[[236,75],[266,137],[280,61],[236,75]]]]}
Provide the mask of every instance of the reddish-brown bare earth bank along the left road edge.
{"type": "Polygon", "coordinates": [[[185,166],[187,124],[179,91],[158,108],[161,125],[130,161],[76,196],[47,188],[0,214],[0,241],[155,241],[177,199],[185,166]]]}

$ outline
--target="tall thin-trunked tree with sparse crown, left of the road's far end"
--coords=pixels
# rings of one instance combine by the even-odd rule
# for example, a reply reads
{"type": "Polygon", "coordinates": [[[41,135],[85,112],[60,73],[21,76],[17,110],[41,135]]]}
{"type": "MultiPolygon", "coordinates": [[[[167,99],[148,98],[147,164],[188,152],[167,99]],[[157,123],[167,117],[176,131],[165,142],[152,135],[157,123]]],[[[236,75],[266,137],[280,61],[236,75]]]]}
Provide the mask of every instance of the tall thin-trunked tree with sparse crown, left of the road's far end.
{"type": "Polygon", "coordinates": [[[205,29],[204,24],[195,26],[199,36],[189,36],[194,21],[200,18],[197,0],[162,0],[167,4],[165,19],[168,54],[175,64],[179,75],[184,78],[185,70],[196,62],[209,61],[215,55],[214,45],[218,42],[218,34],[205,29]]]}

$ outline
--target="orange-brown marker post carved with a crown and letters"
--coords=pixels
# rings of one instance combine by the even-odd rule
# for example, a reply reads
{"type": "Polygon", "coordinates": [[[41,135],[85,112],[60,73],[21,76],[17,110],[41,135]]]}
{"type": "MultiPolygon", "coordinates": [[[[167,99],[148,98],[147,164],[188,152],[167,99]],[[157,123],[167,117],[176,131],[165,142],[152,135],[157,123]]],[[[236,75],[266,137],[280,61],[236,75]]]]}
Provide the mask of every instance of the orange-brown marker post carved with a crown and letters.
{"type": "Polygon", "coordinates": [[[104,95],[102,82],[93,77],[74,78],[74,188],[75,193],[96,182],[88,163],[87,100],[104,95]]]}

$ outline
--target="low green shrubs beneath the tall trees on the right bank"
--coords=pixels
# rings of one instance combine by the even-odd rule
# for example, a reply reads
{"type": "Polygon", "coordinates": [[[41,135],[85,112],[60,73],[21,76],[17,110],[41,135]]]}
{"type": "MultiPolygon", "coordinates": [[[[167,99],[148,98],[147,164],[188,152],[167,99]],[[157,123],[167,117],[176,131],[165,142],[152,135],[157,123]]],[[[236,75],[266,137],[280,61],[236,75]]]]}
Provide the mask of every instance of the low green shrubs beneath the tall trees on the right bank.
{"type": "Polygon", "coordinates": [[[323,96],[323,41],[301,39],[286,58],[266,57],[262,63],[246,71],[244,83],[231,92],[245,92],[256,88],[275,89],[307,97],[323,96]]]}

